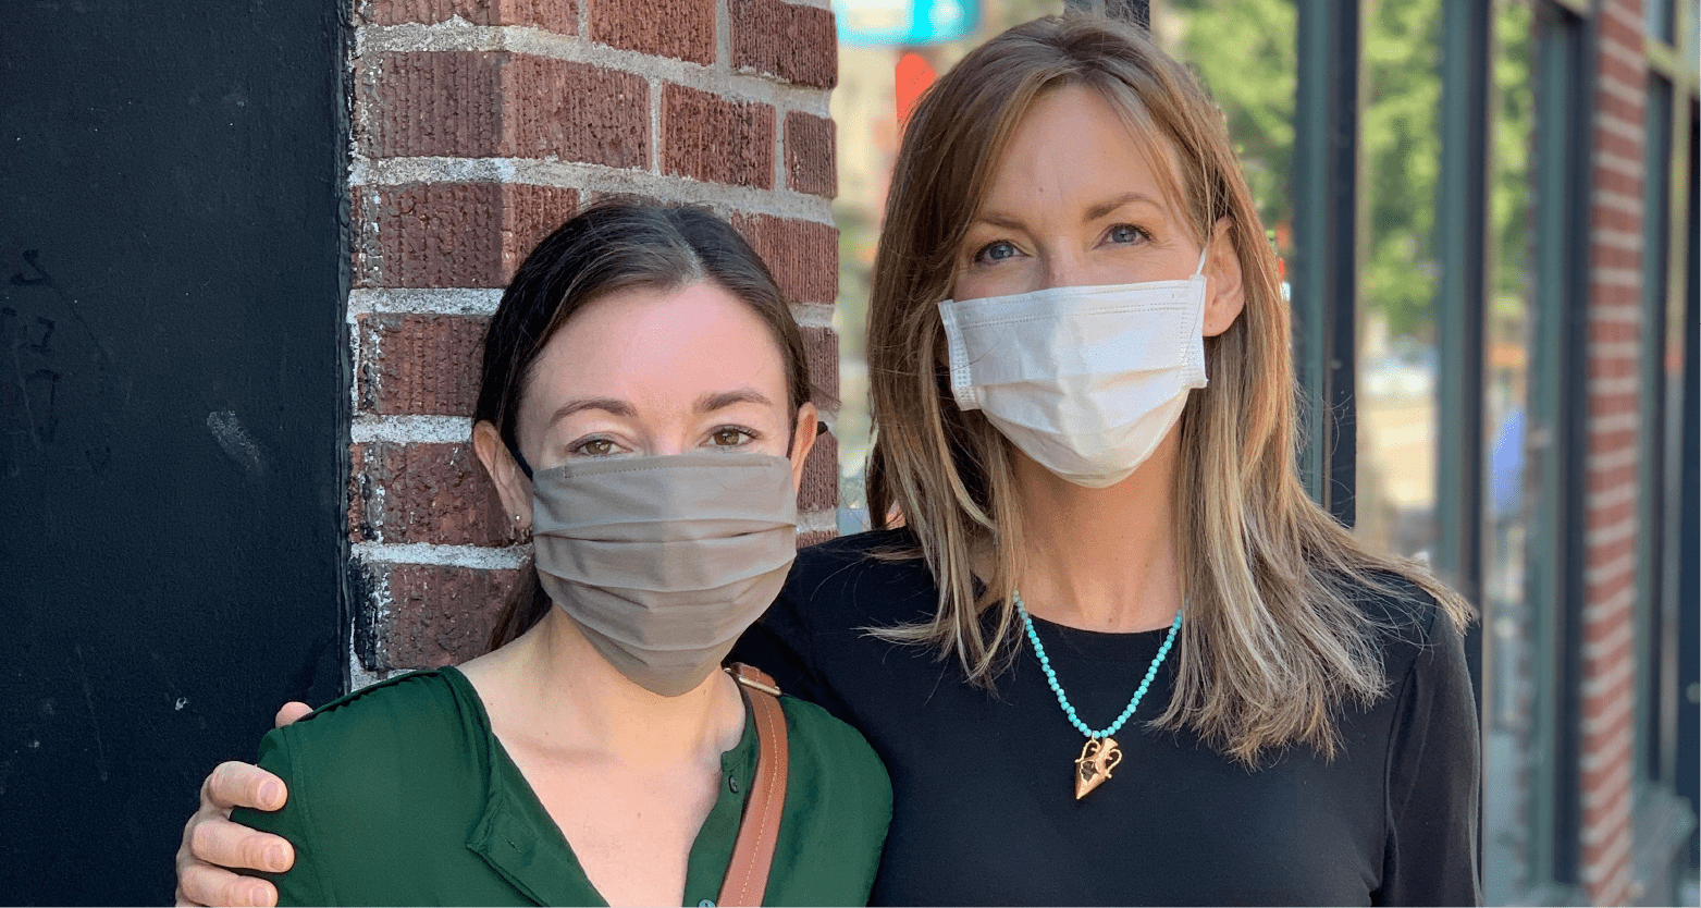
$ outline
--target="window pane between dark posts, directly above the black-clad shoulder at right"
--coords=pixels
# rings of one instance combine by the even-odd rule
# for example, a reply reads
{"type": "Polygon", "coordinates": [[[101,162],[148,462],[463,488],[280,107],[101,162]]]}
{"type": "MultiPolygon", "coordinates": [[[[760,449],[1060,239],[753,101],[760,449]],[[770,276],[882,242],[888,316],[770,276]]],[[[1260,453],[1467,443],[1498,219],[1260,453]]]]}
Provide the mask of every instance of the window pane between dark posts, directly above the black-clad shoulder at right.
{"type": "Polygon", "coordinates": [[[1441,0],[1366,3],[1359,175],[1357,527],[1376,551],[1436,542],[1436,190],[1441,0]]]}

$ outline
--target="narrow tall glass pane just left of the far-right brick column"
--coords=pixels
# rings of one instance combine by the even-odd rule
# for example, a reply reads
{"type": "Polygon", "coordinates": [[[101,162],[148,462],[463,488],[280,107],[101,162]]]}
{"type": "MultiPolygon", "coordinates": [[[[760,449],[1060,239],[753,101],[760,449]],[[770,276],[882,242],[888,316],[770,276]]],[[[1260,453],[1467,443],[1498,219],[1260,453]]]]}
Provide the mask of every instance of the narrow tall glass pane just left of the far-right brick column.
{"type": "Polygon", "coordinates": [[[1531,879],[1533,631],[1526,583],[1531,349],[1533,15],[1524,2],[1495,17],[1495,117],[1490,133],[1490,279],[1485,352],[1487,495],[1483,539],[1483,884],[1512,905],[1531,879]]]}

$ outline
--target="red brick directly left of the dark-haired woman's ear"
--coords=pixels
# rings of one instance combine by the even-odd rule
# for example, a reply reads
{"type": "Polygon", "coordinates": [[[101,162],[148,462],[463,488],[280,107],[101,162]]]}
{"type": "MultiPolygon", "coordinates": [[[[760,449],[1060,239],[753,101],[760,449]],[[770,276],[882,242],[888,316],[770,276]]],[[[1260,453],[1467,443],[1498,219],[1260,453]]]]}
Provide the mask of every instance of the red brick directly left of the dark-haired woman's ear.
{"type": "Polygon", "coordinates": [[[350,447],[350,522],[361,542],[507,546],[517,541],[497,486],[466,444],[350,447]]]}

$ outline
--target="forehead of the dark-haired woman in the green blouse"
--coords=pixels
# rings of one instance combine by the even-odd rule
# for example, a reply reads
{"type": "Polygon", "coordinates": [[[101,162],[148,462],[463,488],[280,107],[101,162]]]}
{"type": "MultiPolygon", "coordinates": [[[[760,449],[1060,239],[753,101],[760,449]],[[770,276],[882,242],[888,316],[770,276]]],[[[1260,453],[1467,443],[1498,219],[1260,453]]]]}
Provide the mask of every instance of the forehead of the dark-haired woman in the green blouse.
{"type": "Polygon", "coordinates": [[[784,401],[784,355],[754,306],[714,284],[616,291],[566,320],[532,366],[526,406],[607,396],[667,403],[750,384],[784,401]]]}

